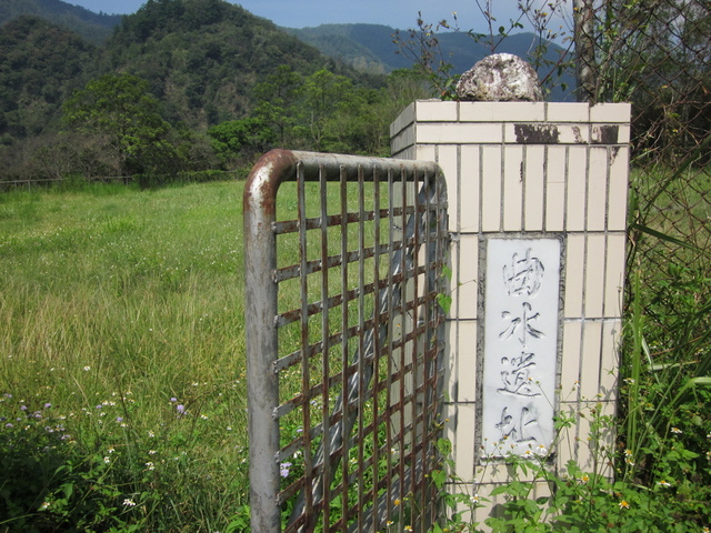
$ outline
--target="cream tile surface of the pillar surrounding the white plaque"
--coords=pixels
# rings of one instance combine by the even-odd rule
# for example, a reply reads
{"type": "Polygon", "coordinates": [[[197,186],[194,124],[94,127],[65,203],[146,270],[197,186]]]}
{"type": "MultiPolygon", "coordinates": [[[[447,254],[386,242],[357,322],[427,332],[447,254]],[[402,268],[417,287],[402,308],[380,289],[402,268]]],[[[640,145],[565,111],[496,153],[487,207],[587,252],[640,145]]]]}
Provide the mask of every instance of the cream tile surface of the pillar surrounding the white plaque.
{"type": "MultiPolygon", "coordinates": [[[[475,459],[477,338],[483,318],[479,244],[490,234],[563,237],[559,411],[577,413],[589,399],[614,413],[629,120],[628,104],[420,101],[391,127],[393,157],[437,161],[448,180],[450,230],[455,237],[451,261],[457,266],[449,344],[458,348],[449,364],[449,414],[457,424],[452,434],[458,473],[464,480],[483,475],[480,481],[489,483],[480,487],[483,496],[510,473],[504,464],[478,464],[475,459]],[[544,145],[529,138],[531,143],[523,145],[517,124],[544,128],[558,143],[544,145]],[[617,127],[619,144],[599,143],[609,127],[617,127]]],[[[555,455],[559,470],[568,459],[591,465],[589,431],[588,419],[578,418],[563,433],[555,455]]],[[[541,485],[540,494],[545,490],[541,485]]],[[[480,511],[477,520],[489,513],[491,509],[480,511]]]]}

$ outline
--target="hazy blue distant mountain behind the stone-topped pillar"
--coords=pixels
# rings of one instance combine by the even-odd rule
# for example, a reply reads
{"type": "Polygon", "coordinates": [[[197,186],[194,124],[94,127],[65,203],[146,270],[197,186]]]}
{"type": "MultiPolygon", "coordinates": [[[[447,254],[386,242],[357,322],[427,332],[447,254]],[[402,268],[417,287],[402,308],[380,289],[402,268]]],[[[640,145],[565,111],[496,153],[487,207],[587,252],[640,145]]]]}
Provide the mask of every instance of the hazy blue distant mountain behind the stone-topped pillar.
{"type": "MultiPolygon", "coordinates": [[[[398,31],[394,28],[380,24],[321,24],[316,28],[292,29],[284,28],[289,33],[304,42],[317,47],[321,52],[333,58],[340,58],[358,70],[365,72],[391,72],[395,69],[412,67],[412,60],[398,53],[398,46],[393,42],[398,31]]],[[[407,39],[407,32],[401,32],[407,39]]],[[[437,36],[444,58],[452,63],[453,73],[461,74],[491,52],[483,41],[477,42],[463,32],[443,32],[437,36]]],[[[555,62],[564,49],[549,42],[545,59],[555,62]]],[[[515,33],[504,39],[497,47],[497,52],[513,53],[529,59],[538,46],[538,38],[533,33],[515,33]]],[[[539,76],[544,77],[551,69],[542,67],[539,76]]],[[[572,100],[570,90],[573,88],[572,76],[563,76],[560,80],[567,83],[569,90],[555,88],[552,100],[572,100]]]]}

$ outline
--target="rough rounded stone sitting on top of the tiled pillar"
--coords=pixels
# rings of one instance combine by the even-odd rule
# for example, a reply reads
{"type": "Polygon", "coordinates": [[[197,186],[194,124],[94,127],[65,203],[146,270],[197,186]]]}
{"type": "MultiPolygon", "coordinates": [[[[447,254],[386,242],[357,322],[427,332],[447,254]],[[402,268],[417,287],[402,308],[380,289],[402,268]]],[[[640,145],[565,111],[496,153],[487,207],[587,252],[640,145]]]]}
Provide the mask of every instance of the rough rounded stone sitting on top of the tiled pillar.
{"type": "Polygon", "coordinates": [[[535,70],[518,56],[494,53],[464,72],[457,83],[460,100],[540,102],[543,91],[535,70]]]}

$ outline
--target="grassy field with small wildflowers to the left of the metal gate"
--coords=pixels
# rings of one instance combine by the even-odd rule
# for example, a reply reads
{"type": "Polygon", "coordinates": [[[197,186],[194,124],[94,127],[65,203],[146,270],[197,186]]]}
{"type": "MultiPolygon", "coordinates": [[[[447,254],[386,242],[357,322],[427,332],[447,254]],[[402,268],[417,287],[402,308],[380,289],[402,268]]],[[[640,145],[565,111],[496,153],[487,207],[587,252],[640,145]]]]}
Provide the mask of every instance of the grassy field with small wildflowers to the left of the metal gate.
{"type": "MultiPolygon", "coordinates": [[[[0,195],[0,451],[21,447],[10,430],[54,428],[61,441],[43,447],[73,469],[64,479],[40,465],[46,495],[3,509],[0,531],[36,531],[28,514],[70,520],[72,497],[97,480],[112,494],[96,503],[97,521],[113,505],[97,531],[239,529],[248,492],[242,187],[0,195]]],[[[0,472],[6,494],[23,475],[10,462],[0,472]]]]}

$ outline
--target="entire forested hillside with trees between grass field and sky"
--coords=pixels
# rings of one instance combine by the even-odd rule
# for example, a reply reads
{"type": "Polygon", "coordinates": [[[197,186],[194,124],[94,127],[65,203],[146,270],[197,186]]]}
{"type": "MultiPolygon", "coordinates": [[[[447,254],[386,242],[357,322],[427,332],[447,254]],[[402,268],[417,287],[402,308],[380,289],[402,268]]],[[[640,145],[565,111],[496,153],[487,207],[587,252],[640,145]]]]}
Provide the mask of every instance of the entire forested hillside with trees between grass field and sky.
{"type": "Polygon", "coordinates": [[[387,154],[390,121],[428,95],[414,72],[359,73],[224,0],[149,0],[101,47],[23,16],[0,52],[2,180],[387,154]]]}

